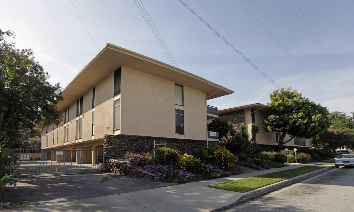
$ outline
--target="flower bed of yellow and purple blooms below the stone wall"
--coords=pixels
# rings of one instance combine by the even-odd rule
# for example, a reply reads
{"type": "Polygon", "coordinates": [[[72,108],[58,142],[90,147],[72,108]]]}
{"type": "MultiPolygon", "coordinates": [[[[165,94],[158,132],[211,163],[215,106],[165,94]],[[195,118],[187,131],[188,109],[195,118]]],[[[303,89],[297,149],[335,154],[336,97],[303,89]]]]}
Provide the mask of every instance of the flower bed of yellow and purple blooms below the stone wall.
{"type": "Polygon", "coordinates": [[[238,175],[241,166],[261,170],[269,168],[263,158],[250,158],[248,155],[230,153],[221,146],[209,146],[181,154],[169,147],[156,148],[156,165],[152,153],[127,153],[125,161],[136,166],[136,170],[161,176],[157,181],[185,183],[204,179],[214,179],[238,175]]]}

